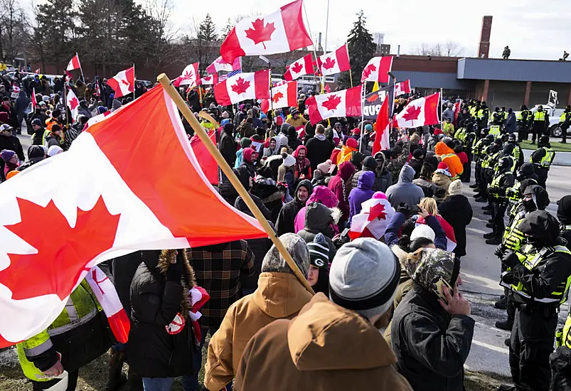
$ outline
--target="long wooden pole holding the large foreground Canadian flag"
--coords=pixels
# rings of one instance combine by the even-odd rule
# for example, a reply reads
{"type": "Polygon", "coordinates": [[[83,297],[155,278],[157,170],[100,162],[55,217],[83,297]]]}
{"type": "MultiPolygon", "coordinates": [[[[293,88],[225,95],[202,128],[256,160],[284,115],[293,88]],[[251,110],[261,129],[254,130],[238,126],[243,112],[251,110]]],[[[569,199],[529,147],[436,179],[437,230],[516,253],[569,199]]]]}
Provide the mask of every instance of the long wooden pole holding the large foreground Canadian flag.
{"type": "Polygon", "coordinates": [[[240,197],[242,197],[242,200],[244,200],[248,208],[250,208],[255,218],[260,223],[260,225],[262,225],[262,228],[266,231],[268,237],[270,237],[270,240],[272,240],[272,242],[276,246],[277,250],[279,251],[279,254],[282,255],[282,257],[284,257],[285,261],[289,265],[289,268],[292,269],[297,279],[299,279],[299,282],[301,282],[301,284],[305,287],[305,289],[307,289],[307,291],[309,291],[311,294],[314,294],[315,293],[314,290],[311,289],[311,286],[309,286],[309,282],[307,282],[306,277],[304,277],[304,275],[301,274],[301,270],[299,270],[299,267],[297,267],[297,264],[294,262],[292,255],[290,255],[289,252],[287,252],[286,248],[284,247],[284,244],[282,243],[281,240],[279,240],[279,237],[277,236],[276,232],[274,232],[272,227],[270,227],[270,224],[267,223],[267,220],[265,219],[264,215],[262,215],[262,212],[260,211],[260,209],[258,209],[254,200],[252,200],[252,197],[250,197],[250,193],[248,193],[247,190],[244,188],[244,186],[242,186],[242,183],[240,183],[238,177],[235,175],[234,171],[232,171],[232,168],[228,166],[228,163],[226,163],[222,154],[220,154],[220,151],[218,151],[218,148],[216,148],[215,144],[208,137],[206,130],[204,130],[203,127],[201,127],[201,124],[198,123],[198,120],[196,119],[196,117],[194,117],[194,114],[191,112],[191,109],[188,108],[188,106],[182,99],[181,95],[179,95],[178,92],[176,92],[173,85],[171,84],[171,80],[169,80],[169,77],[167,77],[164,73],[162,73],[161,75],[159,75],[159,77],[156,78],[156,80],[160,82],[161,85],[164,87],[164,90],[166,91],[167,94],[169,94],[171,99],[174,101],[176,107],[178,107],[178,109],[181,111],[183,116],[188,121],[188,124],[190,124],[191,127],[194,129],[195,134],[198,137],[200,137],[201,141],[206,146],[206,149],[208,149],[210,154],[218,163],[218,166],[220,166],[220,169],[222,169],[226,177],[230,180],[232,186],[234,186],[236,191],[238,191],[238,194],[240,195],[240,197]]]}

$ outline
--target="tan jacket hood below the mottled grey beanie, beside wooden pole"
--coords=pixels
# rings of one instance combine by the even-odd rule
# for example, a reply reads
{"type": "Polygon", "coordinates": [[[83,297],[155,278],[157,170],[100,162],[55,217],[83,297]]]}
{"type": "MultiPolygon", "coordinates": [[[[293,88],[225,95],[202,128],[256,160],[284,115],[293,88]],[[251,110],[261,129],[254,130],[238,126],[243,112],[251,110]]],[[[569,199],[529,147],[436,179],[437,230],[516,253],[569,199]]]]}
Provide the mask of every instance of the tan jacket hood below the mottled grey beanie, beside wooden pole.
{"type": "Polygon", "coordinates": [[[254,303],[272,318],[286,318],[301,310],[312,295],[289,273],[264,272],[252,294],[254,303]]]}

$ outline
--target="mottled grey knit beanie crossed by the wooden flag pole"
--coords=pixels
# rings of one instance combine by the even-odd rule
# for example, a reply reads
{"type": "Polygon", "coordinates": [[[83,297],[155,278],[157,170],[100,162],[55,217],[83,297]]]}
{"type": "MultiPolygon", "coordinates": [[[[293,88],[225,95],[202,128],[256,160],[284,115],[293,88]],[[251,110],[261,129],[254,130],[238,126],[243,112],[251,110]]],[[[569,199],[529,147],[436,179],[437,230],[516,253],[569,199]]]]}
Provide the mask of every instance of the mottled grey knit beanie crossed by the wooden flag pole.
{"type": "MultiPolygon", "coordinates": [[[[305,241],[294,233],[284,233],[284,235],[279,237],[279,240],[282,241],[289,255],[292,255],[294,262],[299,267],[299,270],[301,270],[301,274],[307,278],[309,272],[309,250],[307,250],[305,241]]],[[[262,272],[294,274],[284,257],[279,254],[275,245],[272,245],[272,248],[266,253],[262,261],[262,272]]]]}

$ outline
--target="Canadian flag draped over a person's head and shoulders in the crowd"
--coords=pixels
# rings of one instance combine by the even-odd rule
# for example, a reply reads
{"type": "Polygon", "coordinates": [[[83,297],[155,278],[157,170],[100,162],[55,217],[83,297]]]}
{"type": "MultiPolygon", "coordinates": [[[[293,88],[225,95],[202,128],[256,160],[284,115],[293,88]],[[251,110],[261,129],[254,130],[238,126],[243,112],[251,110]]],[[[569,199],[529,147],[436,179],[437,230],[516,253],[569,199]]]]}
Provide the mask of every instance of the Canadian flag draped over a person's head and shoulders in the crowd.
{"type": "Polygon", "coordinates": [[[395,215],[395,209],[390,205],[384,193],[375,193],[373,198],[361,204],[361,213],[351,219],[349,237],[374,237],[379,240],[387,230],[390,219],[395,215]]]}

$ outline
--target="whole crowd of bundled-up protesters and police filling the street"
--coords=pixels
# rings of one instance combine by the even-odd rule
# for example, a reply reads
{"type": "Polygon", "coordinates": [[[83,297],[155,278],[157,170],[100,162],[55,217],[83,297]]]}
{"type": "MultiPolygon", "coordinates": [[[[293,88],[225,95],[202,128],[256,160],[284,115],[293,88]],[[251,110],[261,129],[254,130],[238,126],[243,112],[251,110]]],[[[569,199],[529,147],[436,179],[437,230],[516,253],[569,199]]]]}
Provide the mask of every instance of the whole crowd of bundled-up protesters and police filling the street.
{"type": "MultiPolygon", "coordinates": [[[[114,100],[98,77],[53,80],[53,85],[38,75],[26,80],[16,80],[21,90],[15,102],[2,97],[3,180],[65,153],[87,119],[132,100],[114,100]],[[64,88],[81,99],[74,124],[65,121],[64,88]],[[38,106],[26,112],[31,91],[38,94],[38,106]],[[13,134],[23,122],[33,141],[27,159],[13,134]]],[[[0,95],[14,80],[6,82],[0,95]]],[[[571,281],[571,252],[564,239],[571,200],[561,200],[559,222],[545,212],[545,202],[538,201],[545,181],[535,183],[543,186],[538,190],[529,179],[534,171],[537,176],[545,171],[546,180],[553,151],[540,138],[543,151],[523,164],[511,136],[516,129],[511,111],[501,121],[498,117],[496,134],[492,127],[499,125],[489,119],[485,102],[463,102],[457,109],[447,102],[442,124],[393,129],[390,149],[373,153],[372,122],[331,118],[312,124],[304,103],[311,91],[299,94],[297,107],[267,113],[257,102],[217,105],[211,89],[180,92],[201,125],[215,132],[223,158],[316,294],[304,288],[269,239],[113,259],[107,272],[132,330],[127,344],[111,348],[106,390],[119,390],[126,381],[129,390],[170,390],[175,377],[182,377],[185,391],[464,390],[475,322],[459,292],[460,259],[466,256],[466,227],[473,215],[464,195],[473,161],[476,196],[489,203],[492,217],[493,232],[486,238],[498,241],[493,244],[506,272],[504,303],[512,314],[510,365],[516,385],[502,390],[549,389],[553,316],[571,281]],[[215,123],[198,117],[201,110],[215,123]],[[510,147],[503,148],[504,142],[510,147]],[[373,204],[382,204],[386,213],[373,216],[373,204]],[[510,223],[504,226],[508,205],[510,223]],[[367,213],[382,228],[357,230],[367,213]],[[196,286],[210,297],[200,309],[198,327],[188,297],[196,286]],[[542,337],[535,338],[538,334],[542,337]]],[[[142,93],[139,85],[134,95],[142,93]]],[[[405,97],[396,100],[395,112],[405,105],[405,97]]],[[[193,129],[186,120],[183,125],[190,139],[193,129]]],[[[252,215],[228,178],[220,175],[217,189],[230,205],[252,215]]],[[[553,378],[561,384],[567,378],[563,364],[571,365],[566,338],[552,358],[560,364],[553,378]]],[[[22,359],[48,379],[62,373],[57,346],[40,354],[26,342],[22,359]]],[[[67,389],[75,390],[77,371],[70,375],[75,378],[70,376],[67,389]]],[[[34,390],[53,384],[57,380],[33,381],[34,390]]]]}

